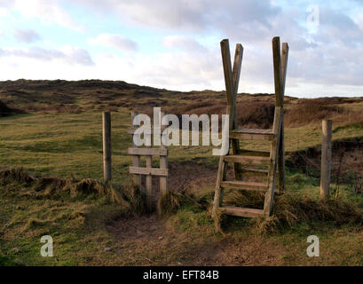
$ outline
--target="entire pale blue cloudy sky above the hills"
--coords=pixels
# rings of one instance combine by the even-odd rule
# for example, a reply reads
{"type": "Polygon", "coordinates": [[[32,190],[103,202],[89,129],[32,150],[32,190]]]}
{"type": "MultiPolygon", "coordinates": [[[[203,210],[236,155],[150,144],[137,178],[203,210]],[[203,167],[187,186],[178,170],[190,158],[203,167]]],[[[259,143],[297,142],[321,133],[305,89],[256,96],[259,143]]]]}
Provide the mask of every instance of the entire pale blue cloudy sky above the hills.
{"type": "Polygon", "coordinates": [[[121,80],[225,90],[220,41],[243,45],[239,92],[363,96],[363,0],[0,0],[0,80],[121,80]]]}

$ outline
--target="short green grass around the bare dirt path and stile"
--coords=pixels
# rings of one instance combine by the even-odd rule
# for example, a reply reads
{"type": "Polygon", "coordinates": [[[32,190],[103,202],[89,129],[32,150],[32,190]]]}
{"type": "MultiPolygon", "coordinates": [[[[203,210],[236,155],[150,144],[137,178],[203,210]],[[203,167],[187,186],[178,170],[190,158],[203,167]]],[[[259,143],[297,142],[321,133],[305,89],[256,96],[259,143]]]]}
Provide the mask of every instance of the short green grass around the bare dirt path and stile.
{"type": "MultiPolygon", "coordinates": [[[[113,176],[118,184],[130,182],[127,172],[131,158],[127,155],[127,148],[131,141],[126,133],[129,126],[128,111],[112,114],[113,176]]],[[[334,139],[351,137],[363,137],[363,129],[336,128],[333,136],[334,139]]],[[[285,138],[287,151],[319,146],[320,126],[286,129],[285,138]]],[[[244,147],[258,145],[248,143],[244,147]]],[[[216,167],[218,159],[211,155],[211,150],[211,146],[171,146],[170,162],[193,161],[216,167]]],[[[18,114],[1,118],[0,165],[2,168],[23,166],[30,172],[46,176],[102,179],[101,113],[18,114]]],[[[319,186],[314,177],[288,171],[288,191],[298,197],[308,196],[317,200],[319,186]]],[[[171,243],[162,250],[154,248],[152,243],[116,240],[114,234],[107,230],[107,224],[124,216],[121,205],[102,198],[76,199],[64,195],[36,199],[21,194],[28,190],[25,185],[0,186],[0,264],[175,264],[179,259],[193,264],[192,259],[187,257],[188,250],[179,244],[171,243]],[[53,237],[54,257],[40,256],[43,245],[40,238],[44,234],[53,237]],[[105,250],[110,247],[112,252],[105,250]]],[[[225,221],[225,233],[228,235],[223,236],[214,230],[206,205],[211,202],[212,190],[200,188],[200,206],[183,204],[166,221],[170,232],[180,234],[188,241],[187,248],[191,251],[203,246],[209,248],[209,243],[217,245],[223,240],[243,243],[262,238],[272,241],[281,250],[279,261],[273,264],[363,264],[363,237],[357,225],[303,222],[261,236],[255,232],[253,220],[230,217],[225,221]],[[313,259],[305,253],[306,238],[310,234],[318,235],[321,243],[321,256],[313,259]]],[[[351,185],[342,186],[340,199],[363,207],[362,195],[352,193],[351,185]]]]}

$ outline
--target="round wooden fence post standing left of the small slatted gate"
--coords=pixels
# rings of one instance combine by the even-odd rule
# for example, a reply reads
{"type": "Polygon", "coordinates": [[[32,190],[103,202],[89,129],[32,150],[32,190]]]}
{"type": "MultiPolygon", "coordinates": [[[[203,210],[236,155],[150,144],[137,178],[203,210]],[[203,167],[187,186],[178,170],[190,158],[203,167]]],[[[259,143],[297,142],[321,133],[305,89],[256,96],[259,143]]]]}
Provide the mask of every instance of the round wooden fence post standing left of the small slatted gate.
{"type": "Polygon", "coordinates": [[[110,112],[102,113],[102,140],[103,140],[103,177],[104,180],[112,179],[112,162],[111,162],[111,114],[110,112]]]}

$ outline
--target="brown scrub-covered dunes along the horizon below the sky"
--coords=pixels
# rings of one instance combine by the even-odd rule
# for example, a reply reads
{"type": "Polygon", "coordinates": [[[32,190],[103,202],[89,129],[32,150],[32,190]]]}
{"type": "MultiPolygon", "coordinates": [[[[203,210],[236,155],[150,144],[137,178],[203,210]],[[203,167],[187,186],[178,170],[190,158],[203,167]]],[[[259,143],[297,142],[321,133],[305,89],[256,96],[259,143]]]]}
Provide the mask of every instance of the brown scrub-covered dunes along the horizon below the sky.
{"type": "MultiPolygon", "coordinates": [[[[7,81],[0,82],[0,113],[78,114],[85,111],[127,109],[152,114],[162,106],[169,114],[225,114],[225,91],[168,91],[125,82],[83,81],[7,81]],[[2,111],[4,108],[4,111],[2,111]]],[[[285,126],[295,128],[333,119],[335,127],[363,124],[359,98],[285,98],[285,126]],[[357,106],[357,107],[356,107],[357,106]]],[[[273,94],[237,96],[239,127],[271,128],[273,94]]]]}

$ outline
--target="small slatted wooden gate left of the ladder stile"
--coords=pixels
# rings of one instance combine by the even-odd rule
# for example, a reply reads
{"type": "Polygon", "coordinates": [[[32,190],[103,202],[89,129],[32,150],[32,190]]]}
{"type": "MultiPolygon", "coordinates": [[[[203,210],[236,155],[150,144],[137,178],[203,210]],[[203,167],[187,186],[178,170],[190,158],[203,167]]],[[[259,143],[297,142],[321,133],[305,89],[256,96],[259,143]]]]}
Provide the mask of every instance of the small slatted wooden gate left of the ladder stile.
{"type": "MultiPolygon", "coordinates": [[[[131,114],[131,125],[134,123],[136,113],[131,114]]],[[[128,133],[134,135],[135,128],[132,127],[128,133]]],[[[152,135],[153,130],[150,132],[152,135]]],[[[142,176],[145,176],[146,182],[146,206],[150,211],[153,207],[153,176],[159,177],[160,180],[160,196],[168,191],[168,149],[161,144],[159,148],[138,147],[132,139],[132,147],[128,149],[128,154],[132,155],[132,166],[129,167],[130,174],[133,175],[133,183],[142,188],[142,176]],[[141,166],[141,156],[146,156],[146,167],[141,166]],[[160,168],[153,168],[153,156],[160,159],[160,168]]]]}

